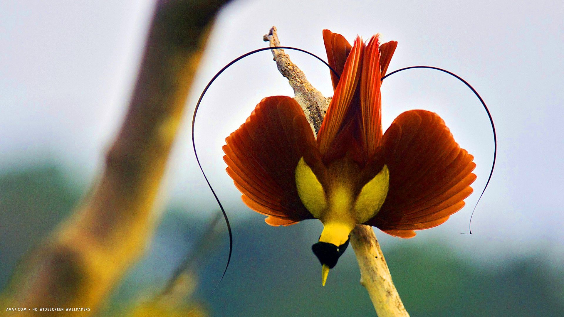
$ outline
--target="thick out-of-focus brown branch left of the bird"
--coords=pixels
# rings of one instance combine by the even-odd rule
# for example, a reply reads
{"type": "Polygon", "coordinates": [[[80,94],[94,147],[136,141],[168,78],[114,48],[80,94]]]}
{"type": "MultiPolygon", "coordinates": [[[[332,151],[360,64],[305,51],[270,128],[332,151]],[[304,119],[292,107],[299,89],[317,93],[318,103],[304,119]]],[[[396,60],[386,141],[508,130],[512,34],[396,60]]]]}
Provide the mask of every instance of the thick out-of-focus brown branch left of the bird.
{"type": "Polygon", "coordinates": [[[143,253],[188,90],[225,2],[157,1],[129,110],[99,182],[20,265],[3,307],[87,307],[90,311],[47,314],[91,315],[143,253]]]}

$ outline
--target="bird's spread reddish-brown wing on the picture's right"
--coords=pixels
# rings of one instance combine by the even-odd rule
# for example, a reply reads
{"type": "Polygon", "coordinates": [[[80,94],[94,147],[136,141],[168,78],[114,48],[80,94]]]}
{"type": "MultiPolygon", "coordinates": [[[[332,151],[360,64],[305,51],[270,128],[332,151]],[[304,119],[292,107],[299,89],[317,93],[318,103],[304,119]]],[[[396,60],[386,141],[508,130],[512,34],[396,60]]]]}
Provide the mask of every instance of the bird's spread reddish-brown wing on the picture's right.
{"type": "Polygon", "coordinates": [[[473,156],[461,149],[433,112],[402,113],[382,138],[390,171],[388,195],[367,224],[387,234],[413,237],[438,226],[464,206],[472,193],[473,156]]]}

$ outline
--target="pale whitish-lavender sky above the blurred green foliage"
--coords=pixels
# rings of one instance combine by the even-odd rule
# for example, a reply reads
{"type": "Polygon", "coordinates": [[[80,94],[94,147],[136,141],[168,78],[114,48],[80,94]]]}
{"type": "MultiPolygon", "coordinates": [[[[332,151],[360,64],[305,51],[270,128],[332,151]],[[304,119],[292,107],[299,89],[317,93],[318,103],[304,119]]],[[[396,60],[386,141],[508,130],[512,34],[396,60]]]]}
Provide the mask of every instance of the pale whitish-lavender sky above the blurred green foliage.
{"type": "MultiPolygon", "coordinates": [[[[0,169],[54,158],[77,177],[95,175],[124,115],[151,10],[152,2],[140,0],[0,2],[0,169]]],[[[460,235],[468,231],[490,169],[486,113],[470,90],[443,73],[413,70],[384,82],[384,129],[407,109],[435,111],[478,164],[466,207],[412,240],[444,240],[481,254],[484,262],[540,250],[561,262],[563,15],[564,5],[554,1],[233,1],[218,17],[188,100],[166,195],[206,217],[217,210],[192,154],[193,106],[224,64],[266,45],[262,36],[272,25],[282,45],[323,58],[324,28],[351,42],[356,34],[368,39],[381,33],[385,41],[399,42],[390,71],[433,65],[459,74],[482,95],[497,128],[496,171],[474,214],[474,234],[460,235]]],[[[288,54],[314,86],[332,94],[323,64],[300,52],[288,54]]],[[[230,213],[233,219],[253,212],[224,173],[221,146],[269,95],[293,93],[267,51],[225,72],[201,105],[197,146],[228,212],[239,210],[230,213]]],[[[313,222],[304,225],[319,230],[313,222]]],[[[382,243],[411,243],[377,235],[382,243]]]]}

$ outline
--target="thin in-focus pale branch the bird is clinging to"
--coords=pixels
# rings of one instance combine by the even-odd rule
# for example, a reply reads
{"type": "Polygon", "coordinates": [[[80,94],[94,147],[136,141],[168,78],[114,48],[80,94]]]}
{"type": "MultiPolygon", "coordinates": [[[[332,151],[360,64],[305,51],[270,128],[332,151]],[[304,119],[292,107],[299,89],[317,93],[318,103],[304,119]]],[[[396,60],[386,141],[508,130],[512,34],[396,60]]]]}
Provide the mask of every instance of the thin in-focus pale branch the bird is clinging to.
{"type": "MultiPolygon", "coordinates": [[[[264,36],[265,41],[270,42],[271,47],[280,46],[276,27],[264,36]]],[[[288,78],[296,96],[294,99],[302,105],[307,120],[314,127],[314,132],[319,131],[321,122],[327,111],[328,100],[309,83],[305,74],[290,61],[284,50],[272,50],[278,70],[284,77],[288,78]],[[307,103],[304,103],[306,100],[307,103]],[[313,102],[313,103],[311,103],[313,102]],[[306,111],[307,109],[307,111],[306,111]],[[321,116],[320,121],[317,117],[321,116]]],[[[387,267],[384,254],[380,244],[370,226],[359,224],[352,230],[351,245],[356,254],[356,261],[360,268],[360,284],[368,291],[376,314],[380,317],[409,317],[399,297],[390,270],[387,267]]]]}

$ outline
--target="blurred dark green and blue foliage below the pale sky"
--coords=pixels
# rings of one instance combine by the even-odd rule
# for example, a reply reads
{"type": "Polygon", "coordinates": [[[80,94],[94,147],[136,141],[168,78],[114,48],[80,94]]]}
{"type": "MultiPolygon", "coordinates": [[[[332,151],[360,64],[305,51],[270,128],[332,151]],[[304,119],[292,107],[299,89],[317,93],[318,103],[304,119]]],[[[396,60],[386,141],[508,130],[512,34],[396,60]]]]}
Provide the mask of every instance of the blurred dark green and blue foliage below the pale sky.
{"type": "MultiPolygon", "coordinates": [[[[63,166],[49,161],[0,175],[1,287],[19,259],[70,212],[86,186],[65,173],[63,166]]],[[[207,220],[187,217],[188,209],[175,204],[165,210],[146,257],[118,287],[105,309],[107,315],[158,292],[182,258],[190,254],[207,220]]],[[[200,287],[195,297],[211,315],[374,314],[359,284],[352,249],[331,271],[323,288],[319,263],[310,251],[316,232],[309,230],[313,222],[274,228],[262,218],[253,213],[249,219],[233,223],[231,266],[211,297],[208,294],[226,261],[224,230],[196,265],[200,287]]],[[[473,250],[449,249],[438,240],[402,241],[409,243],[382,244],[382,248],[411,316],[562,316],[564,267],[545,258],[543,250],[487,263],[488,259],[475,259],[473,250]]]]}

